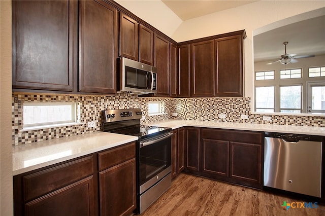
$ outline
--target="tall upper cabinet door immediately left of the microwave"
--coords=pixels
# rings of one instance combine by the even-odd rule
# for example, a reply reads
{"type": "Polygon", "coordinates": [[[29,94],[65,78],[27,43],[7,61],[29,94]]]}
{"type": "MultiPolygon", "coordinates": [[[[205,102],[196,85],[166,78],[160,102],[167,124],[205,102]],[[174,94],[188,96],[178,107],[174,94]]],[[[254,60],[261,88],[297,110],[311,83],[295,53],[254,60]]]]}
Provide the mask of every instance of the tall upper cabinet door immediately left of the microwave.
{"type": "Polygon", "coordinates": [[[80,1],[79,91],[116,93],[117,11],[103,1],[80,1]]]}

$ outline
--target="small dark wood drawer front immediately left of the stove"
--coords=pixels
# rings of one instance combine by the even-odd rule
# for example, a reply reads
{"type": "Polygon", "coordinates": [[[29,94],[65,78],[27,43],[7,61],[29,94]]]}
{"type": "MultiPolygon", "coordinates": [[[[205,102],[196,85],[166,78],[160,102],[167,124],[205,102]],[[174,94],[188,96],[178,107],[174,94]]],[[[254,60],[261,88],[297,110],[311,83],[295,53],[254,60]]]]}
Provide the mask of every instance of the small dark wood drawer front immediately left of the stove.
{"type": "Polygon", "coordinates": [[[136,157],[136,142],[98,154],[99,170],[120,164],[136,157]]]}

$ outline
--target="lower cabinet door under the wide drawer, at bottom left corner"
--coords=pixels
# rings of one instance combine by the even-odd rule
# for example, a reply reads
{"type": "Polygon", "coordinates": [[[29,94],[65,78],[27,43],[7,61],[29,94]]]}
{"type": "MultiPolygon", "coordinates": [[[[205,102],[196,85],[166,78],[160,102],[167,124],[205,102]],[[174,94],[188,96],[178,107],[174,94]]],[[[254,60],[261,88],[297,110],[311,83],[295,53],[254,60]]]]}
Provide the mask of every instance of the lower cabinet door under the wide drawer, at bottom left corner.
{"type": "Polygon", "coordinates": [[[95,215],[92,175],[25,204],[25,215],[95,215]]]}

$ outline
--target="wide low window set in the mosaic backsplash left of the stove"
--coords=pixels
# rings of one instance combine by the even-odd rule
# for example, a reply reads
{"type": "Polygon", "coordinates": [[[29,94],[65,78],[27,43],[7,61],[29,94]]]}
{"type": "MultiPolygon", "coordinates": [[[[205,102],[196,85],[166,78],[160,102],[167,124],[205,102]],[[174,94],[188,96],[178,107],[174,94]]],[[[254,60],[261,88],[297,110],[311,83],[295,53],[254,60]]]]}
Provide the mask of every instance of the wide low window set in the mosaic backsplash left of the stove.
{"type": "Polygon", "coordinates": [[[76,104],[73,102],[24,102],[23,126],[49,126],[76,122],[76,104]]]}

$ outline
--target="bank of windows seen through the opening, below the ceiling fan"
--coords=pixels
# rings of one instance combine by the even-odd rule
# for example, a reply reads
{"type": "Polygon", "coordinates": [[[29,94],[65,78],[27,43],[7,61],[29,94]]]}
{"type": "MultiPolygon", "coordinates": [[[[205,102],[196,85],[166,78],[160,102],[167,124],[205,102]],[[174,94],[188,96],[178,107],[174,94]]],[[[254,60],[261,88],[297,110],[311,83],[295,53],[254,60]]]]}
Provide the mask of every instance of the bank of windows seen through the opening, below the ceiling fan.
{"type": "Polygon", "coordinates": [[[325,113],[325,66],[255,71],[254,111],[325,113]]]}

